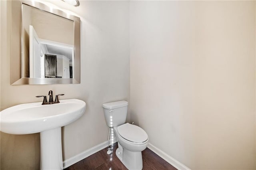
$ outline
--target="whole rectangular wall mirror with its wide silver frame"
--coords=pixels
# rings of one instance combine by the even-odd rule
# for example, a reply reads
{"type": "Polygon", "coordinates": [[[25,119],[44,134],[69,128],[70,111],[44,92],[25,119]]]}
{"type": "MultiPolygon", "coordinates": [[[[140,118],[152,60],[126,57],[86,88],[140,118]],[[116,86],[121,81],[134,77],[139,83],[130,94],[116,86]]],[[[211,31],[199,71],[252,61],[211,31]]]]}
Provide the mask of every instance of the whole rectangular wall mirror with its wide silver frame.
{"type": "Polygon", "coordinates": [[[11,84],[80,83],[80,18],[34,1],[11,10],[11,84]]]}

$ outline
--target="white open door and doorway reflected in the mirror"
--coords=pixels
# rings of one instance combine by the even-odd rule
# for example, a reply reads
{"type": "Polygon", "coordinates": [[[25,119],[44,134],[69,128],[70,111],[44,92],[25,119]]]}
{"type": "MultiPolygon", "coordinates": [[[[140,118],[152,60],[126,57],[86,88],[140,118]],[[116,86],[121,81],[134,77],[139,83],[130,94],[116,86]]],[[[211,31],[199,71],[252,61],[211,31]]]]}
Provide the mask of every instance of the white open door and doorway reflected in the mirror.
{"type": "Polygon", "coordinates": [[[30,25],[29,76],[31,78],[72,78],[74,45],[38,38],[30,25]]]}

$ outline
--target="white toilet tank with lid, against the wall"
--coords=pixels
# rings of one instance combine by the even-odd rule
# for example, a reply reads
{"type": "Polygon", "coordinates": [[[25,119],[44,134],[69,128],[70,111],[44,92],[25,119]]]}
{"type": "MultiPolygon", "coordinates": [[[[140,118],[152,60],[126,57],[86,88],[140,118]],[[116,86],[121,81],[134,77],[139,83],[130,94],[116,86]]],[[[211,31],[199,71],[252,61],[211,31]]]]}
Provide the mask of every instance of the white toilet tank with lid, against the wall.
{"type": "Polygon", "coordinates": [[[108,127],[116,127],[125,123],[128,109],[127,101],[104,103],[102,107],[104,108],[105,120],[108,127]]]}

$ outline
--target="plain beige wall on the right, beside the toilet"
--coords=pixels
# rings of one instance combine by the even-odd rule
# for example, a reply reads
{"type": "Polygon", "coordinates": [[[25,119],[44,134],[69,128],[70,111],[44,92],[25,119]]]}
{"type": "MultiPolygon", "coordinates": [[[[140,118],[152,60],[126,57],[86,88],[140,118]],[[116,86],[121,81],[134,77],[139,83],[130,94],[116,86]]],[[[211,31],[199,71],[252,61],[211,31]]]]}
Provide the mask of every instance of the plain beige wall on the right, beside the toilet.
{"type": "Polygon", "coordinates": [[[131,1],[131,121],[194,170],[255,169],[255,2],[131,1]]]}

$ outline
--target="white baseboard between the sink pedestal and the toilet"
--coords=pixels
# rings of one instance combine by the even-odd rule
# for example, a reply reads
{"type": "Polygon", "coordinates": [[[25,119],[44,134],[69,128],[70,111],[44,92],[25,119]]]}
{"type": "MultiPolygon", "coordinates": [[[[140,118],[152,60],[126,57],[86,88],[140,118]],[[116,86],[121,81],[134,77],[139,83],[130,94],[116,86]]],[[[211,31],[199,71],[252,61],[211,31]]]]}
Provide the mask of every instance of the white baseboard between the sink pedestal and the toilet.
{"type": "MultiPolygon", "coordinates": [[[[112,143],[116,143],[117,140],[114,138],[112,143]]],[[[87,158],[88,156],[91,156],[92,154],[95,154],[96,152],[106,148],[108,146],[108,141],[102,142],[101,144],[98,144],[96,146],[93,146],[92,148],[89,148],[85,150],[84,152],[81,152],[80,154],[77,154],[67,160],[63,161],[63,168],[67,168],[68,166],[71,166],[80,160],[83,160],[84,158],[87,158]]]]}

